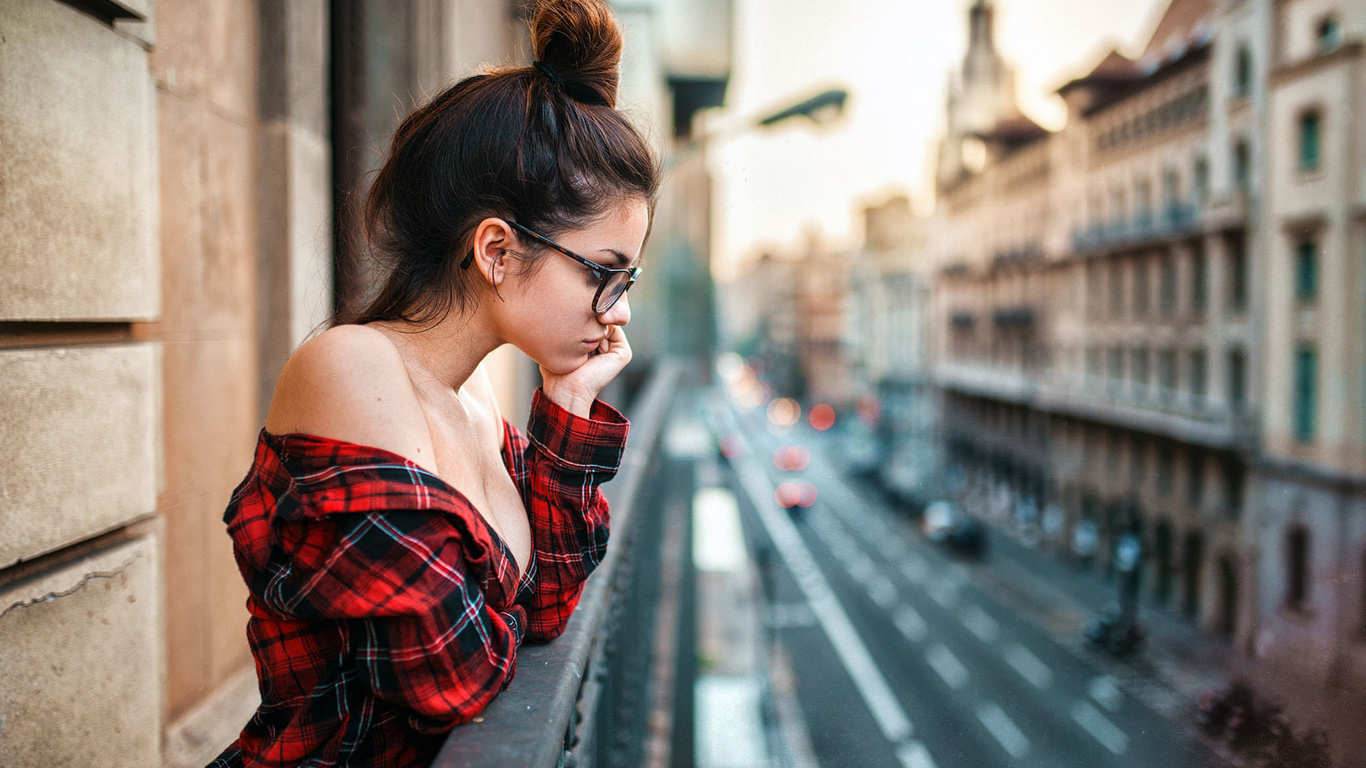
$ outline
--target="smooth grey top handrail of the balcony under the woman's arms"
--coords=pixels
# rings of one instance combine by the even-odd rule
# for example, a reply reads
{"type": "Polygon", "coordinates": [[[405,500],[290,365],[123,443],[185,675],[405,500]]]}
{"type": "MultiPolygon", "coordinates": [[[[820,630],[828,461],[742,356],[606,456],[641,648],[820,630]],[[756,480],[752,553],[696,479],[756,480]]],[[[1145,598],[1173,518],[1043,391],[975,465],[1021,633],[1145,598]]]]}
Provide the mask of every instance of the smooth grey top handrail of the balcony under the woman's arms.
{"type": "Polygon", "coordinates": [[[484,713],[447,737],[433,768],[503,768],[561,764],[579,720],[579,698],[591,687],[594,649],[609,612],[617,563],[631,537],[634,500],[660,450],[673,394],[682,376],[678,361],[665,359],[650,374],[631,409],[631,437],[616,481],[602,493],[612,508],[612,541],[593,571],[564,633],[548,644],[518,650],[516,675],[484,713]]]}

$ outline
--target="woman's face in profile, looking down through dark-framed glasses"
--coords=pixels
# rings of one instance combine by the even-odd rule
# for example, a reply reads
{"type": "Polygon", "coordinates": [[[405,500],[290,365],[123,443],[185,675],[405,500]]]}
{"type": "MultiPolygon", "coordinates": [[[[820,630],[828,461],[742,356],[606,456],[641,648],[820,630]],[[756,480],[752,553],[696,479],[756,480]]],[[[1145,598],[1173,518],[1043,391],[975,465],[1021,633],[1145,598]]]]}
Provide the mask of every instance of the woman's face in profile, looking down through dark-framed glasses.
{"type": "MultiPolygon", "coordinates": [[[[645,201],[631,198],[555,242],[602,266],[639,266],[649,217],[645,201]]],[[[540,264],[503,291],[505,302],[494,302],[504,305],[499,313],[504,338],[552,373],[568,373],[589,359],[608,327],[631,321],[630,292],[596,314],[593,297],[601,277],[591,268],[527,235],[519,234],[518,245],[537,251],[540,264]]]]}

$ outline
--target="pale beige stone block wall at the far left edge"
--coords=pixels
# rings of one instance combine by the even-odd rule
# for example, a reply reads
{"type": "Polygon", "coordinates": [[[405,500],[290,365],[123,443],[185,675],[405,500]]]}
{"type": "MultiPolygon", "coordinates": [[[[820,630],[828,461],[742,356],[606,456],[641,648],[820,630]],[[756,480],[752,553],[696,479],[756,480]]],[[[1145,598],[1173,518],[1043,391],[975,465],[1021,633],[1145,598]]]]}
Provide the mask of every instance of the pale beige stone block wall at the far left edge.
{"type": "Polygon", "coordinates": [[[161,760],[154,11],[74,5],[0,4],[7,768],[161,760]]]}

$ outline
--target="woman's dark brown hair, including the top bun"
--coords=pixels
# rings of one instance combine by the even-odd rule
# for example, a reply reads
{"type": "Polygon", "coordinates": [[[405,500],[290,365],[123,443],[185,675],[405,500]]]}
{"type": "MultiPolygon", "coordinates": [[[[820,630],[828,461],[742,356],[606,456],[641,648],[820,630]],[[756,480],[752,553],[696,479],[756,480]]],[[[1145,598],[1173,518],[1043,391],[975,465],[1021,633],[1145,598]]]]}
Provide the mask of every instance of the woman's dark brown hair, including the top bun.
{"type": "Polygon", "coordinates": [[[612,11],[602,0],[545,0],[531,46],[538,66],[466,78],[399,124],[363,212],[369,256],[388,275],[333,324],[464,312],[474,294],[459,262],[486,217],[555,238],[626,198],[653,209],[658,160],[616,111],[612,11]]]}

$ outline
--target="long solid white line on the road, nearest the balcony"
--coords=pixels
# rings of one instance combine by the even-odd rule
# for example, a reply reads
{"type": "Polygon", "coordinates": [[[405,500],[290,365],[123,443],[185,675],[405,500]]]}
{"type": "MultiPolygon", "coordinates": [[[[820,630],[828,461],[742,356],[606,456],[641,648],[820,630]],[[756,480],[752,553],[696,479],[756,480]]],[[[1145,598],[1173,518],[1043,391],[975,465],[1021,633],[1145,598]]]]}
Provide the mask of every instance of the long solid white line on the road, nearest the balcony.
{"type": "MultiPolygon", "coordinates": [[[[742,437],[743,440],[743,437],[742,437]]],[[[769,538],[777,549],[788,571],[796,578],[796,586],[806,596],[807,605],[816,614],[816,620],[831,638],[835,653],[839,656],[844,670],[854,681],[863,702],[873,713],[877,727],[892,743],[906,741],[911,737],[911,720],[902,709],[902,704],[892,694],[892,686],[882,676],[881,670],[873,661],[873,655],[859,637],[848,614],[840,605],[839,599],[831,589],[829,582],[816,564],[816,559],[806,548],[802,534],[787,514],[780,512],[773,500],[776,488],[762,469],[754,461],[750,451],[742,459],[744,466],[736,473],[742,486],[750,496],[750,503],[758,514],[759,522],[768,529],[769,538]]]]}

